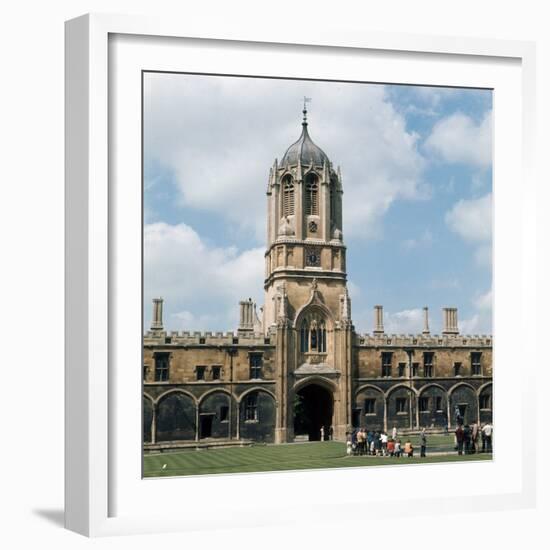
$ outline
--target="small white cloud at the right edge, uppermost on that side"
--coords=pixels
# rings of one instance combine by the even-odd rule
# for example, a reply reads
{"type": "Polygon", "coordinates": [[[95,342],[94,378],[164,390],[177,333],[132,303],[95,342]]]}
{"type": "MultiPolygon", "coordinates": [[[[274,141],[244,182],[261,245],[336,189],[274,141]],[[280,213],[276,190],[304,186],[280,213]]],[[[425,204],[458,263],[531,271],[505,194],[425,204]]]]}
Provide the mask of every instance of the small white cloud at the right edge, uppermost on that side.
{"type": "Polygon", "coordinates": [[[487,111],[479,124],[463,113],[438,121],[425,148],[446,162],[489,167],[492,163],[492,113],[487,111]]]}

